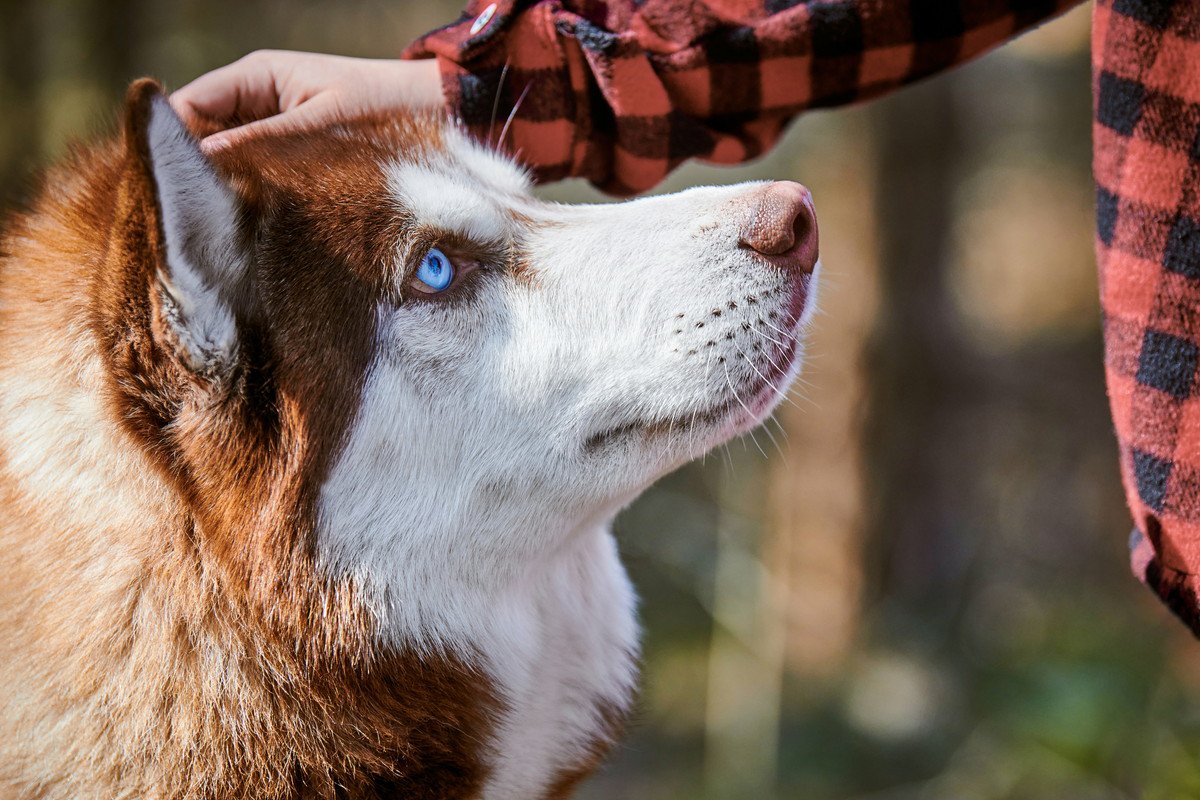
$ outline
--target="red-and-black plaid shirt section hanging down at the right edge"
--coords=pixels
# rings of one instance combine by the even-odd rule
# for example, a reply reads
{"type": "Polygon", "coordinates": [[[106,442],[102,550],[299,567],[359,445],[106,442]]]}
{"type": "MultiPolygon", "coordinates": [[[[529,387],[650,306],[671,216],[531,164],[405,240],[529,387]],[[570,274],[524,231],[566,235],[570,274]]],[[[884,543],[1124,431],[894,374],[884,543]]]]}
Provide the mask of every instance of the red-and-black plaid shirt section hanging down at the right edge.
{"type": "Polygon", "coordinates": [[[1200,4],[1098,0],[1105,373],[1134,572],[1200,636],[1200,4]]]}

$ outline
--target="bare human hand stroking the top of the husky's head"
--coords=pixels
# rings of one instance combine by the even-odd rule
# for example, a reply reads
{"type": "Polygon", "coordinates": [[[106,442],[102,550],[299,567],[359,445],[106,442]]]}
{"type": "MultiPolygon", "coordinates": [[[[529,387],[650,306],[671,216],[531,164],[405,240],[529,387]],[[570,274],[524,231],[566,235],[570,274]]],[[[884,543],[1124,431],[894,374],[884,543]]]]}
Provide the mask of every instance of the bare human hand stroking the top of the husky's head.
{"type": "Polygon", "coordinates": [[[184,120],[227,126],[200,143],[208,152],[263,133],[290,133],[354,114],[443,102],[434,59],[352,59],[288,50],[251,53],[170,96],[184,120]]]}

